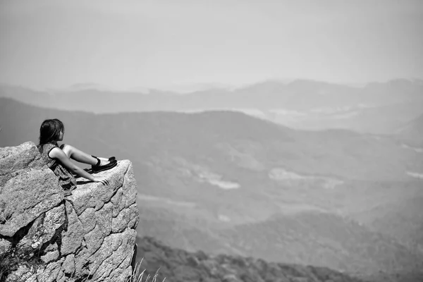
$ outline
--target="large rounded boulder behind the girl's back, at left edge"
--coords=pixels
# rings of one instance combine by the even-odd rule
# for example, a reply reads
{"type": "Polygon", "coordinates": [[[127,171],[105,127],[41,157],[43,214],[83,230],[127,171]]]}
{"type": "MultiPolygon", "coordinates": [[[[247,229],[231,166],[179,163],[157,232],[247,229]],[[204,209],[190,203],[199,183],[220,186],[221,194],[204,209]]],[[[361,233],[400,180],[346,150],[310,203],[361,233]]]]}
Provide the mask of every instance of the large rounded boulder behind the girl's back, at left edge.
{"type": "Polygon", "coordinates": [[[0,149],[0,235],[11,237],[63,200],[34,143],[0,149]]]}

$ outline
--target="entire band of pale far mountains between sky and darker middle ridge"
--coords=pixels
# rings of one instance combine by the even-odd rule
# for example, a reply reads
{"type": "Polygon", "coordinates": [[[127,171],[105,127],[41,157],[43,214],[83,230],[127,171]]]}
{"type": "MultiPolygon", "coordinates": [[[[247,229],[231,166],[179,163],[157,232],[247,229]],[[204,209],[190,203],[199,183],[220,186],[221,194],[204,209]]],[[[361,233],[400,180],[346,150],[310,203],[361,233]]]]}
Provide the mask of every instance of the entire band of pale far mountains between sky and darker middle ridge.
{"type": "Polygon", "coordinates": [[[97,114],[228,109],[293,128],[345,128],[364,133],[393,133],[399,126],[423,114],[423,83],[420,80],[391,80],[364,87],[312,80],[269,80],[235,89],[205,88],[188,94],[154,89],[146,94],[145,90],[122,92],[97,88],[82,84],[76,85],[71,92],[47,93],[0,86],[0,97],[50,109],[97,114]]]}

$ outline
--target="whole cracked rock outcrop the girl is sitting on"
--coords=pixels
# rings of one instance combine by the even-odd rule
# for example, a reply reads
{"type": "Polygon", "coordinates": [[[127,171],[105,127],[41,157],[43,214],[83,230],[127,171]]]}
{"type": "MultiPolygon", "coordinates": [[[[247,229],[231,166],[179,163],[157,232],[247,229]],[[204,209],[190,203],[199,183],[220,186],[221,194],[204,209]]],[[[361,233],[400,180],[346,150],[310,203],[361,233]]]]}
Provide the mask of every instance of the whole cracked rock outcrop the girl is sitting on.
{"type": "Polygon", "coordinates": [[[64,197],[35,144],[0,148],[0,281],[125,281],[139,214],[128,160],[64,197]]]}

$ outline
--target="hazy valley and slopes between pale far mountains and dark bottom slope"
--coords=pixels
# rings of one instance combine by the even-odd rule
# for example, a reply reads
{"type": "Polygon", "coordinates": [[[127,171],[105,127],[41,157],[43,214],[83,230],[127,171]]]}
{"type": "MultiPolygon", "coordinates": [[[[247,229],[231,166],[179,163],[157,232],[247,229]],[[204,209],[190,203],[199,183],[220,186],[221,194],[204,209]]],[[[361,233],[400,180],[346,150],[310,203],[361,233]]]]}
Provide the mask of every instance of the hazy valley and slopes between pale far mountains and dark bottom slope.
{"type": "Polygon", "coordinates": [[[59,118],[69,144],[133,161],[140,240],[369,279],[420,275],[420,119],[376,135],[239,111],[92,114],[0,98],[0,113],[1,147],[37,142],[39,123],[59,118]]]}

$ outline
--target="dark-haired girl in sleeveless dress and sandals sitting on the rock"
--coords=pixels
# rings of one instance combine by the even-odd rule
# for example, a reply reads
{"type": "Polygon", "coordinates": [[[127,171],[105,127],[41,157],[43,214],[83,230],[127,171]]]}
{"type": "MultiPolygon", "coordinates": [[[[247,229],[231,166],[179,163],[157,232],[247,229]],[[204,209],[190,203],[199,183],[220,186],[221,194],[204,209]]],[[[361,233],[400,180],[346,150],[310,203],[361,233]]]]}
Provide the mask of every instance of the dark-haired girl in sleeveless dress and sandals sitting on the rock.
{"type": "Polygon", "coordinates": [[[72,173],[94,182],[109,185],[106,178],[92,176],[82,168],[75,166],[71,159],[80,163],[91,164],[92,172],[96,173],[116,166],[115,157],[109,159],[97,158],[66,144],[59,147],[57,142],[63,140],[63,133],[65,133],[65,128],[59,119],[45,120],[39,128],[39,145],[37,148],[47,166],[54,171],[56,176],[59,176],[59,184],[65,190],[65,196],[71,195],[71,190],[76,188],[76,180],[72,173]]]}

